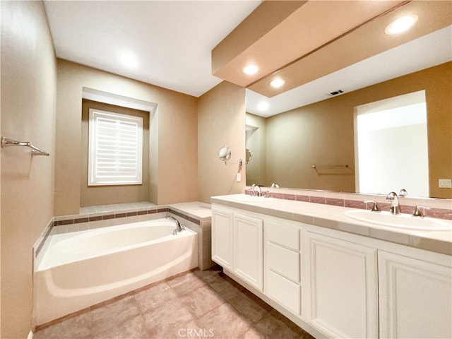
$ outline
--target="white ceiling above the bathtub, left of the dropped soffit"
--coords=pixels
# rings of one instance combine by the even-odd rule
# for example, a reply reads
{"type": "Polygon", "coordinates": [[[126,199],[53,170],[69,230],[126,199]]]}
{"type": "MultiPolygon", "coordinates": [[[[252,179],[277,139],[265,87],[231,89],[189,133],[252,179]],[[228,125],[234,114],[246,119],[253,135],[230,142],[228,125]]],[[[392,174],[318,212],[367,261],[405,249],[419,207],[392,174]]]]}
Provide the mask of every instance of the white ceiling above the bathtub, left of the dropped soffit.
{"type": "Polygon", "coordinates": [[[198,97],[222,81],[210,51],[261,1],[44,4],[57,57],[198,97]],[[136,54],[136,69],[119,63],[122,51],[136,54]]]}

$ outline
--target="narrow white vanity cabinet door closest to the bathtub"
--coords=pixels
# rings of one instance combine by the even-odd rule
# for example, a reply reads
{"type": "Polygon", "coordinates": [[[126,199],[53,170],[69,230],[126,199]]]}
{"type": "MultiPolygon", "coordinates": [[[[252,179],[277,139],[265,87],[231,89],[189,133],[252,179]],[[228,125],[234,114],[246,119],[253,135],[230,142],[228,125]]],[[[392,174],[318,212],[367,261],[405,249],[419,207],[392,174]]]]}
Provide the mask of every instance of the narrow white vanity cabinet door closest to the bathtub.
{"type": "Polygon", "coordinates": [[[232,212],[212,209],[212,260],[232,270],[233,261],[232,212]]]}

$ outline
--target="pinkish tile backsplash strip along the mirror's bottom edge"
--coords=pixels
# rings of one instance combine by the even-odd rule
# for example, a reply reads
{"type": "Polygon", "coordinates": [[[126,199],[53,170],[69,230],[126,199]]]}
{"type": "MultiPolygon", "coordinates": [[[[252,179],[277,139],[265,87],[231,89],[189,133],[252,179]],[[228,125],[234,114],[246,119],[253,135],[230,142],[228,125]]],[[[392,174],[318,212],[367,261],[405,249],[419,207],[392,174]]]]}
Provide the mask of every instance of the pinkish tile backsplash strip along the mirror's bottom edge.
{"type": "MultiPolygon", "coordinates": [[[[263,187],[262,191],[264,192],[266,189],[266,187],[263,187]]],[[[383,195],[375,196],[330,191],[305,191],[301,189],[268,188],[268,191],[268,196],[272,198],[304,201],[307,203],[365,209],[366,204],[364,203],[364,200],[376,200],[379,208],[383,211],[388,211],[391,207],[391,203],[388,203],[386,201],[386,196],[383,195]]],[[[246,189],[245,194],[251,194],[251,189],[246,189]]],[[[402,213],[412,214],[416,205],[430,206],[429,210],[426,210],[427,217],[452,220],[451,199],[400,198],[402,213]],[[404,199],[407,200],[404,201],[404,199]]]]}

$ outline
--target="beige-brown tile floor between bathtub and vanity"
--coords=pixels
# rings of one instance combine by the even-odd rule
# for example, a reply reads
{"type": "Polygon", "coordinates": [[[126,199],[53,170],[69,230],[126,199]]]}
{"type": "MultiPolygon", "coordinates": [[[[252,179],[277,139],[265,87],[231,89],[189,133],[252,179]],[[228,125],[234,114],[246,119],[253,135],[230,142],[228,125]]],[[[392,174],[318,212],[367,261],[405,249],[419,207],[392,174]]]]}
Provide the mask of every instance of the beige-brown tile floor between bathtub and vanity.
{"type": "Polygon", "coordinates": [[[221,272],[194,270],[38,328],[33,339],[313,338],[221,272]]]}

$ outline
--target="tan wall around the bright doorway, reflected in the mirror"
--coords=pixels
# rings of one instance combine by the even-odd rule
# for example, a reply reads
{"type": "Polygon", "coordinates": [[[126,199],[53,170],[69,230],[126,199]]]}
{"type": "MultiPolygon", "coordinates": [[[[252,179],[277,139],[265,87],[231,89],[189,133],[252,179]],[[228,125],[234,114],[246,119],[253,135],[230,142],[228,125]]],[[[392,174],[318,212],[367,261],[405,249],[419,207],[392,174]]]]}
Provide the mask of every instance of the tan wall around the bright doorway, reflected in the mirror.
{"type": "MultiPolygon", "coordinates": [[[[304,189],[355,191],[354,175],[316,174],[311,165],[350,165],[354,157],[354,107],[426,91],[430,196],[452,198],[438,179],[451,178],[452,63],[299,107],[267,119],[267,181],[304,189]]],[[[395,141],[396,142],[396,141],[395,141]]]]}

